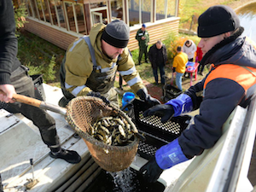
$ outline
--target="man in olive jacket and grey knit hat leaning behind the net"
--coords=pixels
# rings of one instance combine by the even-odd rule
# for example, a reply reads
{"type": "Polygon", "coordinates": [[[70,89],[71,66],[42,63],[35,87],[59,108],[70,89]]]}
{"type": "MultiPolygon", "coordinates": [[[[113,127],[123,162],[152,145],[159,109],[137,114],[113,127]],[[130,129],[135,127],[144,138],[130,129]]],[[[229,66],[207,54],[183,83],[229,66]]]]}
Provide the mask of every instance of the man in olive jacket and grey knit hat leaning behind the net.
{"type": "Polygon", "coordinates": [[[107,26],[96,24],[90,30],[90,37],[78,38],[70,44],[61,64],[64,96],[59,105],[65,107],[75,96],[97,96],[119,107],[119,97],[113,88],[117,71],[140,99],[150,106],[160,104],[148,95],[137,73],[126,47],[129,38],[129,26],[122,20],[113,20],[107,26]]]}

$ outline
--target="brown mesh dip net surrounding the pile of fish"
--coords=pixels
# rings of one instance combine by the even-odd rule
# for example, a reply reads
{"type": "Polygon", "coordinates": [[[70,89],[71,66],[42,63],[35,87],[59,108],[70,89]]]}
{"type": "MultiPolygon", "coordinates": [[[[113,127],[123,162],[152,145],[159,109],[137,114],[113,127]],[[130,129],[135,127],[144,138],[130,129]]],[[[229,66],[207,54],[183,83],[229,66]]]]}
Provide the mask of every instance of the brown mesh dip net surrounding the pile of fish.
{"type": "Polygon", "coordinates": [[[134,137],[132,143],[113,146],[90,136],[90,129],[93,128],[96,119],[117,115],[125,119],[131,125],[131,129],[137,132],[136,126],[126,113],[112,105],[107,105],[95,96],[78,96],[67,105],[67,122],[84,139],[96,163],[108,172],[119,172],[130,166],[137,154],[139,143],[138,138],[134,137]]]}

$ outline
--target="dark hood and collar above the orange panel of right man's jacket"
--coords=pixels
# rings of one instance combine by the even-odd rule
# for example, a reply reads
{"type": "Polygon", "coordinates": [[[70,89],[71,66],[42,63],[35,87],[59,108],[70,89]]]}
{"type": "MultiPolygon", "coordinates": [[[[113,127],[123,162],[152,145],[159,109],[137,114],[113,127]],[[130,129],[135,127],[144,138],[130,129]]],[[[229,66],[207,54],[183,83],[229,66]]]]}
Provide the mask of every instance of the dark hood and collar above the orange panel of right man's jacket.
{"type": "Polygon", "coordinates": [[[237,66],[256,68],[256,45],[247,37],[241,36],[241,27],[230,38],[226,38],[210,49],[201,60],[201,63],[235,64],[237,66]]]}

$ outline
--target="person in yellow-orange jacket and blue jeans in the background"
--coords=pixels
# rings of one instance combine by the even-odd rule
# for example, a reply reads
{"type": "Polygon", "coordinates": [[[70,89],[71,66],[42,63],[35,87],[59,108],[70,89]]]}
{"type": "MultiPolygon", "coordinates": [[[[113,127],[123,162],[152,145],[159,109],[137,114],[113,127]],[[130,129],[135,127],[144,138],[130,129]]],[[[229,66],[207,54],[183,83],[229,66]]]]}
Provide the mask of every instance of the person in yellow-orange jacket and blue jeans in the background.
{"type": "Polygon", "coordinates": [[[183,90],[182,78],[186,71],[186,63],[188,62],[188,55],[183,53],[181,46],[177,46],[177,55],[172,62],[172,73],[176,73],[176,85],[179,90],[183,90]]]}

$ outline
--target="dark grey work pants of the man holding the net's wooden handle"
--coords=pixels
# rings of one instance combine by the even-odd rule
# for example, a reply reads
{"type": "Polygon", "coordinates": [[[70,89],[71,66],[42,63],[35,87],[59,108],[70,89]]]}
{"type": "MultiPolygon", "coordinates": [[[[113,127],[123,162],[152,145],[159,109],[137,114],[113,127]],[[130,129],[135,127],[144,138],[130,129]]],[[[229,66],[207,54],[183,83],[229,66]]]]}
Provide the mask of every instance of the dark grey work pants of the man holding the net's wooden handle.
{"type": "MultiPolygon", "coordinates": [[[[32,78],[27,75],[26,67],[19,67],[15,72],[11,73],[11,82],[18,94],[31,96],[43,101],[42,96],[32,82],[32,78]]],[[[38,126],[43,142],[48,147],[60,147],[60,139],[55,129],[55,119],[44,109],[20,102],[9,103],[5,105],[5,109],[10,113],[22,113],[27,119],[31,119],[33,124],[38,126]]]]}

